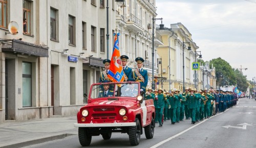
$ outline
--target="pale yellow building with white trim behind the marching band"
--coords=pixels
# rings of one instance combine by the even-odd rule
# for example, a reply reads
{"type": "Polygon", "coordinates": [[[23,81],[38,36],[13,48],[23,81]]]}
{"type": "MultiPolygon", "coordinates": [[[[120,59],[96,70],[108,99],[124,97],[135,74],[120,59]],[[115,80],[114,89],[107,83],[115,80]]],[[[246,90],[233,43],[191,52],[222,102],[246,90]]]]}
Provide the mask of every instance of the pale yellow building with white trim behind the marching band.
{"type": "Polygon", "coordinates": [[[162,36],[164,43],[158,47],[158,54],[162,60],[159,73],[166,78],[163,88],[183,91],[183,79],[185,88],[194,88],[194,70],[191,66],[197,54],[195,51],[199,47],[192,40],[191,34],[182,23],[170,24],[170,28],[159,29],[157,32],[162,36]]]}

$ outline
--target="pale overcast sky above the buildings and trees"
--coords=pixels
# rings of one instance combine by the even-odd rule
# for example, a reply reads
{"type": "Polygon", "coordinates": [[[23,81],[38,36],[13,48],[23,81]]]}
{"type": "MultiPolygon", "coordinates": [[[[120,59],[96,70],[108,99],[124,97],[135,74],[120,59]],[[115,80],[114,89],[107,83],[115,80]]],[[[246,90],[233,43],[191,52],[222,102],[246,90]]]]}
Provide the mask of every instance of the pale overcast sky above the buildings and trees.
{"type": "Polygon", "coordinates": [[[204,61],[221,57],[248,68],[247,80],[256,77],[256,0],[156,0],[156,6],[165,27],[181,22],[188,29],[204,61]]]}

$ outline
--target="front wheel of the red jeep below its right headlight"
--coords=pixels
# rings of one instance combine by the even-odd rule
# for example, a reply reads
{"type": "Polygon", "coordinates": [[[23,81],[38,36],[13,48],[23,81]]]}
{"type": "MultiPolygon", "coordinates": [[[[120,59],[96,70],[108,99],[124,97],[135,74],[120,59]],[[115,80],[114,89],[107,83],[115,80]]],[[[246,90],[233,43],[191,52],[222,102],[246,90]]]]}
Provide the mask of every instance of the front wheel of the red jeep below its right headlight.
{"type": "Polygon", "coordinates": [[[131,145],[138,145],[140,143],[140,121],[135,118],[136,126],[129,127],[129,140],[131,145]]]}

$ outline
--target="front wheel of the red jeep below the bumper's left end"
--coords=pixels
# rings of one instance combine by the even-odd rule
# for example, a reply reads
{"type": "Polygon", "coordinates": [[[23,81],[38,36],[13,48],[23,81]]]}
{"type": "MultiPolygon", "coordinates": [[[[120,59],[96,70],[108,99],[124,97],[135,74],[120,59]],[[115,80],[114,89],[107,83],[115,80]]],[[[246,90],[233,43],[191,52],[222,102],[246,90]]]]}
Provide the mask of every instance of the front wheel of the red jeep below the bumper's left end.
{"type": "Polygon", "coordinates": [[[79,142],[82,146],[89,146],[92,141],[92,135],[88,134],[87,128],[78,128],[79,142]]]}

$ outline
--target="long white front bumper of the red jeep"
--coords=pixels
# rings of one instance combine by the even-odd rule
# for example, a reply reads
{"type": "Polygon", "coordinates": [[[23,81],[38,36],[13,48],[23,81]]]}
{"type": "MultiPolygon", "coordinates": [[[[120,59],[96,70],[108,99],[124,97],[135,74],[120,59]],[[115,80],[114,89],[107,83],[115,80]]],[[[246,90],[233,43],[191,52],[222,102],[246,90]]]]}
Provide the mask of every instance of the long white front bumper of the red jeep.
{"type": "Polygon", "coordinates": [[[74,127],[82,127],[82,128],[86,128],[86,127],[132,127],[132,126],[136,126],[136,122],[128,122],[128,123],[105,123],[105,124],[74,124],[74,127]]]}

